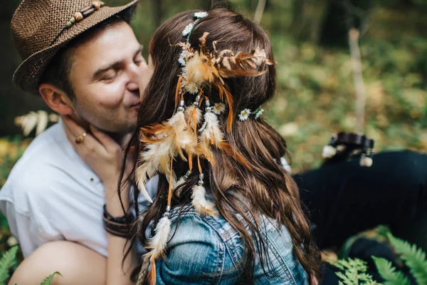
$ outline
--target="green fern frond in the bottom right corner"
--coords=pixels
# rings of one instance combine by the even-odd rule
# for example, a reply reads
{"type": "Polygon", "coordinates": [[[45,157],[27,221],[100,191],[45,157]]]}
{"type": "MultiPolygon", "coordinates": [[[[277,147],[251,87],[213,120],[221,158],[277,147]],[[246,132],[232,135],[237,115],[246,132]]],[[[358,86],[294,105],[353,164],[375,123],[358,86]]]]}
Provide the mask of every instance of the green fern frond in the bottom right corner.
{"type": "Polygon", "coordinates": [[[390,243],[401,259],[405,261],[417,284],[427,284],[427,259],[426,253],[418,249],[415,244],[409,244],[391,234],[387,234],[390,243]]]}

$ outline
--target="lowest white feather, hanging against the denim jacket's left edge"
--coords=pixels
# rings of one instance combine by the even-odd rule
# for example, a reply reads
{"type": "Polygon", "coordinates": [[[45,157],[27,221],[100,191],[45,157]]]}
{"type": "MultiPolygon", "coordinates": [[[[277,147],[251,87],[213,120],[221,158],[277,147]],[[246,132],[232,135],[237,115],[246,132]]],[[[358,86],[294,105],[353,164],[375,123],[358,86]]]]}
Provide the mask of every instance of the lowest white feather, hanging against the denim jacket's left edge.
{"type": "Polygon", "coordinates": [[[162,257],[164,251],[167,247],[167,241],[169,240],[169,234],[171,232],[171,221],[168,217],[162,217],[157,223],[156,229],[154,229],[156,234],[154,237],[149,239],[147,244],[147,249],[152,249],[152,251],[147,252],[144,257],[149,258],[151,261],[162,257]]]}

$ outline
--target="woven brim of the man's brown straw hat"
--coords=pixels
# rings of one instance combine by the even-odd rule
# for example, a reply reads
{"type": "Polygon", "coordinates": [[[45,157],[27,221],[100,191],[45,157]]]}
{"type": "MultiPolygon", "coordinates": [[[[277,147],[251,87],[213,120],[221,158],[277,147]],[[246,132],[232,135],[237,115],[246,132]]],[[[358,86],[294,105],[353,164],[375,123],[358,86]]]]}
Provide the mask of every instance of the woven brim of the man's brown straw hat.
{"type": "Polygon", "coordinates": [[[104,6],[99,11],[90,15],[88,19],[83,19],[78,24],[69,28],[68,33],[64,33],[63,36],[58,38],[58,41],[52,46],[45,48],[37,53],[26,58],[23,63],[16,69],[12,81],[16,86],[22,90],[38,95],[38,86],[40,83],[41,76],[51,61],[53,56],[62,48],[66,43],[71,41],[76,36],[80,35],[89,28],[100,24],[100,22],[110,18],[111,16],[117,15],[127,9],[132,9],[139,0],[133,0],[129,4],[118,7],[104,6]]]}

